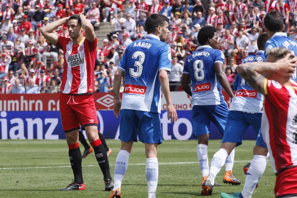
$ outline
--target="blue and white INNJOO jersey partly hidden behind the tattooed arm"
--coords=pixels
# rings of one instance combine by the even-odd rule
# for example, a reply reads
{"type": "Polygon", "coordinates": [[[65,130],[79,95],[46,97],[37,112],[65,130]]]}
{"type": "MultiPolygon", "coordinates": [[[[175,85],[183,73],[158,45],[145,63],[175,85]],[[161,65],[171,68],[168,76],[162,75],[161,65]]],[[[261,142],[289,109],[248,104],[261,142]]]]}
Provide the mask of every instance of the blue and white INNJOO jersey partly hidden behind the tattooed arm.
{"type": "MultiPolygon", "coordinates": [[[[265,60],[264,51],[259,50],[257,54],[246,57],[245,62],[263,62],[265,60]]],[[[244,111],[252,113],[262,112],[263,95],[249,86],[247,82],[237,73],[234,81],[234,98],[230,104],[230,111],[244,111]]]]}

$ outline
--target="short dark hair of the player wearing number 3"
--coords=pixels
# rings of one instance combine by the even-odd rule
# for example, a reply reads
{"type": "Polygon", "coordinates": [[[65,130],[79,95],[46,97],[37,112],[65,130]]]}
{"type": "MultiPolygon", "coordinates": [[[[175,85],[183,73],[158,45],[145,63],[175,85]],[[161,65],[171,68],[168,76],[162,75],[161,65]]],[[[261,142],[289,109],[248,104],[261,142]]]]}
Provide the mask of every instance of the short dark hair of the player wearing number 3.
{"type": "Polygon", "coordinates": [[[150,15],[145,22],[146,31],[148,34],[154,33],[158,26],[163,26],[165,22],[169,23],[169,19],[164,15],[152,14],[150,15]]]}

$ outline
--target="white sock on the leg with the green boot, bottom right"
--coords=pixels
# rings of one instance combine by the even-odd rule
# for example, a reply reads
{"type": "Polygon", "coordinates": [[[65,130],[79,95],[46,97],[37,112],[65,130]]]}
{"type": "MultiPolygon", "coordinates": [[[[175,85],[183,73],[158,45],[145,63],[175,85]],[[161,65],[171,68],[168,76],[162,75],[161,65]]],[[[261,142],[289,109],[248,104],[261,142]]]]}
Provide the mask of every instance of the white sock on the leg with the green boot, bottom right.
{"type": "Polygon", "coordinates": [[[252,197],[256,185],[265,171],[266,161],[266,156],[254,155],[251,166],[249,167],[249,171],[247,172],[247,177],[245,178],[243,190],[241,192],[244,198],[252,197]]]}

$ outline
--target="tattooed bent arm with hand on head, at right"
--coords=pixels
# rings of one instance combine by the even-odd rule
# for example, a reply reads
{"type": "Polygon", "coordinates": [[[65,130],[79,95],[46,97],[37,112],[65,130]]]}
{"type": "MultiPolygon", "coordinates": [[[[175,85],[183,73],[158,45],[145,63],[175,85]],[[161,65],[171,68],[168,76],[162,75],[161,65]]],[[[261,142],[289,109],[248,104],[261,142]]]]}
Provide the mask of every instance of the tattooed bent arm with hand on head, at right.
{"type": "Polygon", "coordinates": [[[265,78],[261,74],[276,72],[279,75],[291,76],[295,71],[297,58],[289,59],[290,55],[287,54],[286,57],[279,59],[277,62],[247,62],[239,65],[237,71],[252,88],[261,94],[265,94],[265,78]]]}

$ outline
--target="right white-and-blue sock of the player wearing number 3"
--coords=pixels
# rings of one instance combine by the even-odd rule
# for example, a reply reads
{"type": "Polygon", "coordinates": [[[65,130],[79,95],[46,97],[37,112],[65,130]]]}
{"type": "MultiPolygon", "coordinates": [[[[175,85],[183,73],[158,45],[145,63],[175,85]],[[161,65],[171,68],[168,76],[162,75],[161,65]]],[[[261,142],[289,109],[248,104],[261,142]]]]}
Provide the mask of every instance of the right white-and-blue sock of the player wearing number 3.
{"type": "Polygon", "coordinates": [[[148,184],[148,198],[156,197],[158,175],[159,175],[158,158],[153,157],[153,158],[146,159],[146,181],[148,184]]]}

